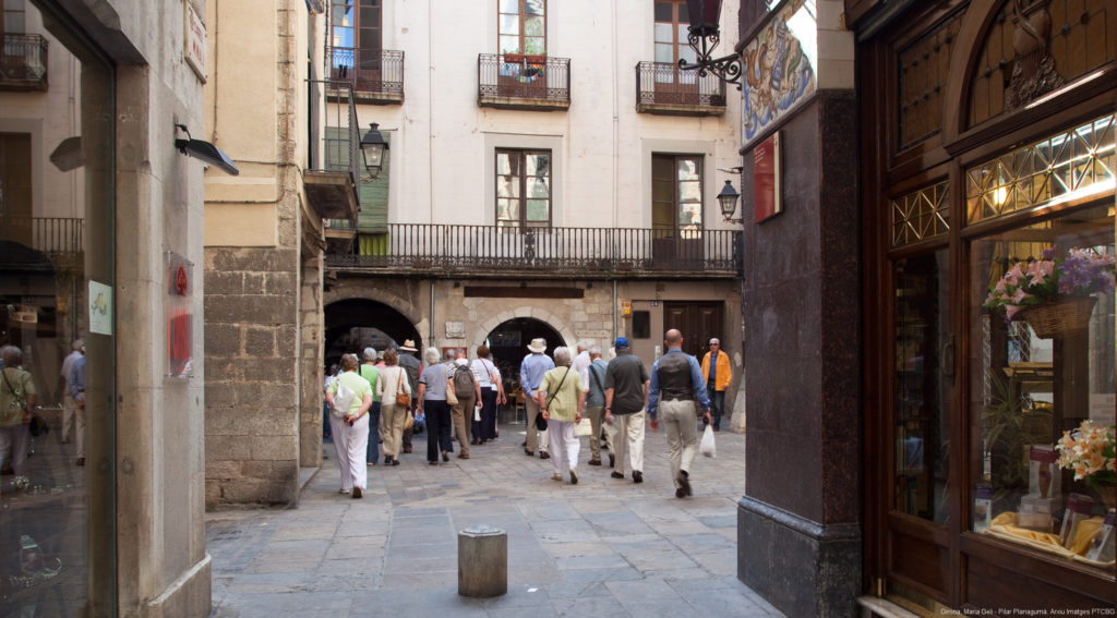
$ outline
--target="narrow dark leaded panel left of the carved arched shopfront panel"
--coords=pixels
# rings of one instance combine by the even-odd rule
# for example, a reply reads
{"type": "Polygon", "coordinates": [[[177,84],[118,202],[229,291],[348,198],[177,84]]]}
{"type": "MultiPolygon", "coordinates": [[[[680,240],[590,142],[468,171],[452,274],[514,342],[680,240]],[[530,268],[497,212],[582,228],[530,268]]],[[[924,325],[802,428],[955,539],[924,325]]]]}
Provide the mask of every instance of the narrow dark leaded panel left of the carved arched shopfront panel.
{"type": "Polygon", "coordinates": [[[899,51],[900,147],[943,128],[943,95],[949,76],[951,50],[962,27],[962,12],[899,51]]]}

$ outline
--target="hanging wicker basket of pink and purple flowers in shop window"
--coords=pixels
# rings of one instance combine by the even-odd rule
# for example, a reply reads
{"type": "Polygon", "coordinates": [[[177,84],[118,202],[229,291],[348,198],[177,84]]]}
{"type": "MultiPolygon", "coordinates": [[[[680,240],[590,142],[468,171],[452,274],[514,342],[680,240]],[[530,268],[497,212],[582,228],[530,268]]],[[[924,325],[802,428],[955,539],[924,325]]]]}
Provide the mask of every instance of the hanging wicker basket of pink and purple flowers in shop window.
{"type": "Polygon", "coordinates": [[[1094,294],[1114,291],[1114,257],[1092,249],[1053,255],[1053,248],[1044,249],[1042,259],[1013,264],[982,306],[1003,309],[1006,320],[1028,321],[1042,338],[1086,328],[1094,294]]]}

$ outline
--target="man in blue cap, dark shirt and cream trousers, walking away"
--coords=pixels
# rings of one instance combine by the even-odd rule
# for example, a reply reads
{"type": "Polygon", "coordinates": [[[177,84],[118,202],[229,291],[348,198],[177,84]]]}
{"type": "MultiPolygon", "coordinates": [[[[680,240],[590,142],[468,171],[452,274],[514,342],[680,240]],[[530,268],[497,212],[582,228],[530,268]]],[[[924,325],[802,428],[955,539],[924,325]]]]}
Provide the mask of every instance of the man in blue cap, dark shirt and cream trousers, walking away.
{"type": "MultiPolygon", "coordinates": [[[[632,482],[643,482],[643,419],[648,406],[648,369],[629,348],[628,339],[613,344],[617,358],[605,369],[605,423],[617,425],[609,445],[613,479],[624,477],[624,455],[629,456],[632,482]]],[[[596,437],[596,436],[594,436],[596,437]]]]}

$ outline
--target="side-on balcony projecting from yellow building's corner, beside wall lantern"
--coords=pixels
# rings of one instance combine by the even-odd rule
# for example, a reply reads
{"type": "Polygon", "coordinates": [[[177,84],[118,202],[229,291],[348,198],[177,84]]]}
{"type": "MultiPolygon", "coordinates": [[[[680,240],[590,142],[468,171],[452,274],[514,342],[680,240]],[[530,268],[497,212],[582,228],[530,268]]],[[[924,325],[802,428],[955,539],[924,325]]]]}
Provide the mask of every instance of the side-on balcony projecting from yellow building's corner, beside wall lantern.
{"type": "MultiPolygon", "coordinates": [[[[311,80],[311,100],[323,118],[322,134],[314,135],[311,161],[303,171],[303,185],[311,209],[321,219],[356,220],[360,209],[356,183],[361,177],[361,136],[353,86],[347,83],[311,80]],[[319,96],[321,88],[335,93],[319,96]]],[[[315,127],[314,133],[318,129],[315,127]]],[[[352,240],[352,234],[350,234],[352,240]]]]}

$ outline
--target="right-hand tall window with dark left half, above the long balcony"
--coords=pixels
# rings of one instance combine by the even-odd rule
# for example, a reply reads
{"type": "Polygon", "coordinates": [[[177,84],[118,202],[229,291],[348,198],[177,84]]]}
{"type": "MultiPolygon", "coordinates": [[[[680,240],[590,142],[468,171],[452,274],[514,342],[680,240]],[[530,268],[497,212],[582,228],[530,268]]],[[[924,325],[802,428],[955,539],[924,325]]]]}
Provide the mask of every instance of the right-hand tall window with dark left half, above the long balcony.
{"type": "Polygon", "coordinates": [[[651,155],[651,229],[656,238],[701,236],[701,155],[651,155]]]}

